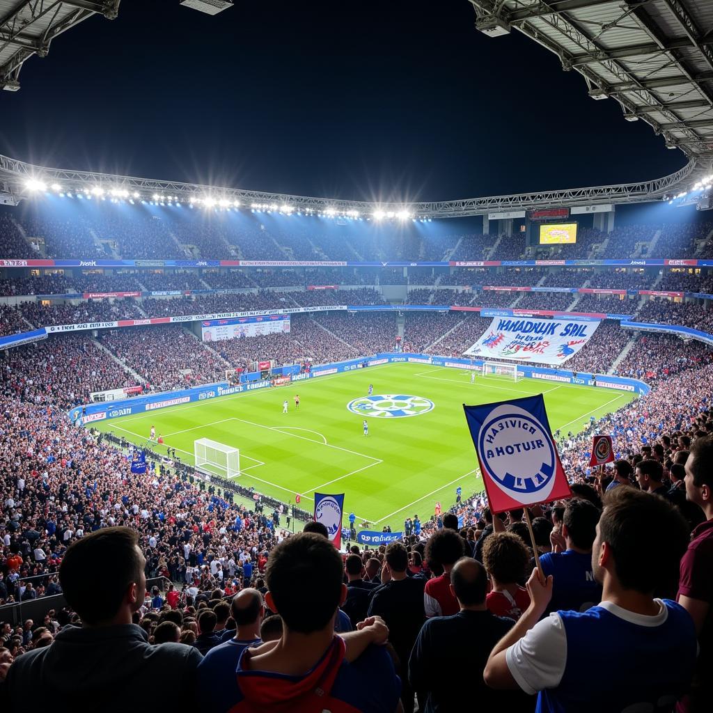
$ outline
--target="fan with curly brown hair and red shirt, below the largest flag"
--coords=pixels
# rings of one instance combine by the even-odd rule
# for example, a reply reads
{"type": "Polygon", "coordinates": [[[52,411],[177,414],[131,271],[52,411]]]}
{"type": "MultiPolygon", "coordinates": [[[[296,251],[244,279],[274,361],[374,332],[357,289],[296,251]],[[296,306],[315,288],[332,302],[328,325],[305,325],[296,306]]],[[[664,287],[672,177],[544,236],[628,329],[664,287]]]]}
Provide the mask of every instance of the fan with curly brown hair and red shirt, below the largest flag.
{"type": "Polygon", "coordinates": [[[530,562],[528,548],[514,533],[493,533],[483,546],[483,564],[491,578],[486,598],[488,611],[517,621],[530,606],[530,596],[520,582],[530,562]]]}

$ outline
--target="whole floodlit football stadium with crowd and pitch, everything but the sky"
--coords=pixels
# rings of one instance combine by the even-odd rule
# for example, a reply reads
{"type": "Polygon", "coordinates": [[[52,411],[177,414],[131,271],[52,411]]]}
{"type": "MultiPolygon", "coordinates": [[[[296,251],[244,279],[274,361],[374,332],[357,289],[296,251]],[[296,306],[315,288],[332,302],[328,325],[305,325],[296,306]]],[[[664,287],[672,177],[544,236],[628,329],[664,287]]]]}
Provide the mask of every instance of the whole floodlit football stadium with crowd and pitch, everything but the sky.
{"type": "MultiPolygon", "coordinates": [[[[684,165],[426,202],[0,155],[4,709],[33,686],[96,710],[140,671],[139,709],[710,709],[713,6],[462,4],[486,56],[538,45],[684,165]],[[535,419],[551,463],[483,449],[479,409],[535,419]],[[125,665],[92,673],[112,636],[125,665]],[[548,660],[574,637],[597,643],[548,660]]],[[[0,117],[25,63],[119,5],[0,2],[0,117]]],[[[543,446],[517,424],[518,456],[543,446]]]]}

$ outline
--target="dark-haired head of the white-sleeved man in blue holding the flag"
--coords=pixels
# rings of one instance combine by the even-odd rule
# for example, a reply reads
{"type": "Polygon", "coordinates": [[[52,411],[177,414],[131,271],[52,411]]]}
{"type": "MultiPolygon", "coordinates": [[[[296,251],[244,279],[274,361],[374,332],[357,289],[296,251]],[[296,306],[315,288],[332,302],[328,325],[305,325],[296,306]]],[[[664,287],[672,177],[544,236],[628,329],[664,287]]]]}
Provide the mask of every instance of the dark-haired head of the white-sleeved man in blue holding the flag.
{"type": "Polygon", "coordinates": [[[592,568],[600,584],[653,595],[678,581],[689,528],[674,506],[635,488],[607,493],[592,568]]]}

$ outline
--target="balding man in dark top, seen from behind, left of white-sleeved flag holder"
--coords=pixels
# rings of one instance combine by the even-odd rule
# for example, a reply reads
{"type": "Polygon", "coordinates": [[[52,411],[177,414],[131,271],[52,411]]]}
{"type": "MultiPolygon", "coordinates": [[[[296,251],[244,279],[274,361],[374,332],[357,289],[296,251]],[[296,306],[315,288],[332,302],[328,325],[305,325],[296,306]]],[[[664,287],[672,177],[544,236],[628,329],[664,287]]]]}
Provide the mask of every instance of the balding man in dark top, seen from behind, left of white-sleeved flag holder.
{"type": "Polygon", "coordinates": [[[488,655],[514,623],[488,611],[483,565],[469,557],[458,560],[451,570],[451,588],[460,611],[431,617],[409,660],[409,681],[426,697],[425,713],[467,711],[474,703],[484,711],[531,711],[532,702],[525,694],[495,692],[483,682],[488,655]]]}

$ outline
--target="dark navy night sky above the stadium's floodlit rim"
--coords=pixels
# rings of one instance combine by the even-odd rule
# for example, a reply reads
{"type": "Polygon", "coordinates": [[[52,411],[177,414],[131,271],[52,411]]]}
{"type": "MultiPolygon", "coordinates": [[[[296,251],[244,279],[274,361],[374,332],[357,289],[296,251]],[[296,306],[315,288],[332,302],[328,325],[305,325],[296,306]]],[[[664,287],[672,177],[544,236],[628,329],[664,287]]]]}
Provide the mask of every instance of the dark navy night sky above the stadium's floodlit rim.
{"type": "Polygon", "coordinates": [[[123,0],[0,92],[0,152],[356,200],[441,200],[656,178],[686,163],[467,0],[123,0]]]}

